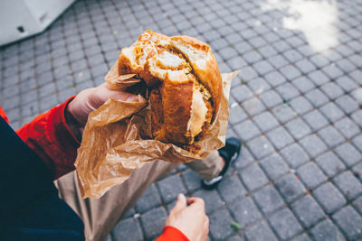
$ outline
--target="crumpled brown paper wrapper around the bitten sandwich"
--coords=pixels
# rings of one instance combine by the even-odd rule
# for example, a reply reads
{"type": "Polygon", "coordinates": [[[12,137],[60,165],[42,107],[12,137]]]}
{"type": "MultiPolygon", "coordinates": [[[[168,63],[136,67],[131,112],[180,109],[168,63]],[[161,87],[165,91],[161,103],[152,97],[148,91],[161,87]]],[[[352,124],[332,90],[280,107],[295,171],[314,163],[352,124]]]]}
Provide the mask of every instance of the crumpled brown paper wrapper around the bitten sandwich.
{"type": "MultiPolygon", "coordinates": [[[[117,76],[116,65],[106,81],[113,89],[124,89],[139,79],[117,76]]],[[[199,153],[190,153],[174,144],[151,139],[150,108],[140,95],[133,102],[110,98],[90,113],[75,162],[83,198],[100,198],[111,187],[129,179],[132,171],[148,162],[192,162],[224,146],[229,116],[232,79],[239,71],[223,74],[223,97],[214,124],[202,141],[199,153]]]]}

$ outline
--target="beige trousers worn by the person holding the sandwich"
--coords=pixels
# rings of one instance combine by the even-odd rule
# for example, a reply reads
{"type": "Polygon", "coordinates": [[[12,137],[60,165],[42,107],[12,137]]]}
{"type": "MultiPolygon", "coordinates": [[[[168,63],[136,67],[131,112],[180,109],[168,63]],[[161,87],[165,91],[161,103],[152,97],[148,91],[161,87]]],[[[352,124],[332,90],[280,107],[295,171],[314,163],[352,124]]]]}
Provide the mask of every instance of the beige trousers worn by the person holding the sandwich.
{"type": "MultiPolygon", "coordinates": [[[[187,166],[200,173],[200,177],[210,179],[221,171],[220,158],[216,157],[218,157],[217,152],[204,160],[187,163],[187,166]]],[[[177,165],[159,160],[148,163],[141,169],[133,171],[129,180],[111,188],[100,199],[81,198],[75,171],[55,181],[55,185],[61,199],[71,206],[83,221],[86,239],[104,240],[148,187],[175,169],[177,165]]]]}

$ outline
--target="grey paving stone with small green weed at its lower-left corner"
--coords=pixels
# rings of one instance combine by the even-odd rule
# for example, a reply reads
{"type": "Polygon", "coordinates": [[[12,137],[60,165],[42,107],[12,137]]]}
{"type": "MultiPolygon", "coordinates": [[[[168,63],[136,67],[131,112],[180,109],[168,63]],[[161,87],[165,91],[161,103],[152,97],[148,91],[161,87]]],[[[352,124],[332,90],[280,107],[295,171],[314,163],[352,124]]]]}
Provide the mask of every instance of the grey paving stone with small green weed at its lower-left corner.
{"type": "Polygon", "coordinates": [[[246,227],[262,218],[262,214],[256,208],[250,197],[235,200],[229,207],[235,220],[246,227]]]}

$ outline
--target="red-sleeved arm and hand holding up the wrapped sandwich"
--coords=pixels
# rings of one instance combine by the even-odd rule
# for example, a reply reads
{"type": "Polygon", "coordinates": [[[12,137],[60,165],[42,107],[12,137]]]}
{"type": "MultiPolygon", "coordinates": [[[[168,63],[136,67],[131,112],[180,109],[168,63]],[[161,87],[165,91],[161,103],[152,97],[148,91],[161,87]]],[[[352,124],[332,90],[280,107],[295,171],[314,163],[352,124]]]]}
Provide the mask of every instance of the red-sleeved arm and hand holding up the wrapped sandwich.
{"type": "Polygon", "coordinates": [[[53,180],[74,170],[82,128],[90,112],[110,97],[130,101],[135,96],[110,90],[106,84],[87,88],[16,131],[24,143],[43,160],[53,180]]]}

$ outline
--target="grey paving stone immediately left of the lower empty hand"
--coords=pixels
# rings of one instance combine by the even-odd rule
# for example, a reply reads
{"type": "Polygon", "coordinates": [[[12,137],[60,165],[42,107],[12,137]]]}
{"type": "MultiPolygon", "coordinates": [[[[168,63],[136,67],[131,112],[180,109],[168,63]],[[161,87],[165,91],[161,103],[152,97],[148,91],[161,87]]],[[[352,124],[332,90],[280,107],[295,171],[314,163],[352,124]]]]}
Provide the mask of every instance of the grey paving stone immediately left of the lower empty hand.
{"type": "Polygon", "coordinates": [[[159,236],[162,233],[165,221],[167,219],[166,209],[159,207],[151,209],[141,215],[140,220],[147,239],[159,236]]]}

